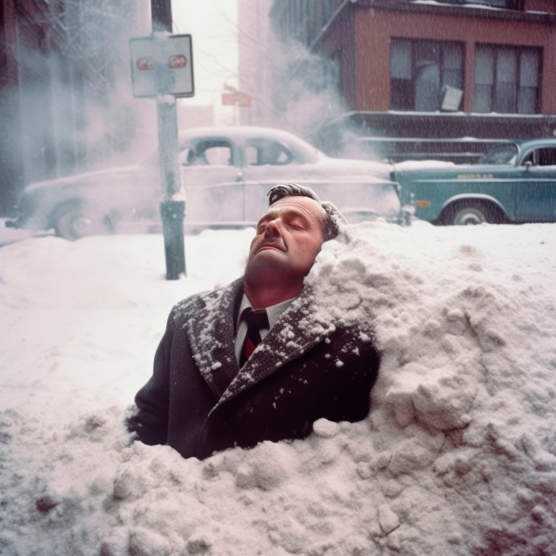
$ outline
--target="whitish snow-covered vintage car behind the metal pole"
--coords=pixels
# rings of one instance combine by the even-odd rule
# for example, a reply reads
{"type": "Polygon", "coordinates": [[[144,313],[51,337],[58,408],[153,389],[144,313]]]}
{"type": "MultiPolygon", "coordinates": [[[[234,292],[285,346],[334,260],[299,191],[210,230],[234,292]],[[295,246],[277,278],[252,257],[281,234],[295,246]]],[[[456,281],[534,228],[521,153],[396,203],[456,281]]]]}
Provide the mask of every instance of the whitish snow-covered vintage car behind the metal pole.
{"type": "MultiPolygon", "coordinates": [[[[357,208],[401,222],[398,185],[389,167],[370,161],[329,158],[286,131],[252,126],[207,127],[179,134],[186,193],[186,229],[255,224],[277,183],[309,186],[338,208],[357,208]]],[[[76,239],[110,231],[160,227],[158,156],[113,170],[32,183],[11,227],[54,228],[76,239]],[[139,224],[139,226],[138,226],[139,224]]],[[[348,216],[350,211],[348,211],[348,216]]]]}

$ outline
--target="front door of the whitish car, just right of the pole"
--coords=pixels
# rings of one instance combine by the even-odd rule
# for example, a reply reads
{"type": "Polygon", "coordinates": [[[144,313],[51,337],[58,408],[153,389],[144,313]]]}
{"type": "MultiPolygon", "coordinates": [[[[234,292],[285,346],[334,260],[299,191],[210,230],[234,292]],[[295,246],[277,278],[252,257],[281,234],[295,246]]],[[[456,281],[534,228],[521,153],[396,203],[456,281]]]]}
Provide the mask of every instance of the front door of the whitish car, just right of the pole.
{"type": "Polygon", "coordinates": [[[243,222],[243,180],[238,147],[229,138],[195,138],[181,145],[186,227],[243,222]]]}

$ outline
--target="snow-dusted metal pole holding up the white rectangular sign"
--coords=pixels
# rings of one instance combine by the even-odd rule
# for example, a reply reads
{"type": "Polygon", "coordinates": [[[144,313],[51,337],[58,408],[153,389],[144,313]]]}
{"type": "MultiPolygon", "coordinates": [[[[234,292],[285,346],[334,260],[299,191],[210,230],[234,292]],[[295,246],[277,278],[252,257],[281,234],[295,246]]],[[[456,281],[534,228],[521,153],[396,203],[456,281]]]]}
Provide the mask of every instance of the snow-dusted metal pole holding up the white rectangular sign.
{"type": "MultiPolygon", "coordinates": [[[[153,33],[172,33],[172,5],[170,0],[151,0],[153,33]]],[[[156,96],[158,120],[158,158],[161,165],[163,201],[161,218],[166,256],[166,279],[177,280],[186,274],[186,250],[183,244],[185,200],[179,171],[179,143],[176,97],[156,96]]]]}

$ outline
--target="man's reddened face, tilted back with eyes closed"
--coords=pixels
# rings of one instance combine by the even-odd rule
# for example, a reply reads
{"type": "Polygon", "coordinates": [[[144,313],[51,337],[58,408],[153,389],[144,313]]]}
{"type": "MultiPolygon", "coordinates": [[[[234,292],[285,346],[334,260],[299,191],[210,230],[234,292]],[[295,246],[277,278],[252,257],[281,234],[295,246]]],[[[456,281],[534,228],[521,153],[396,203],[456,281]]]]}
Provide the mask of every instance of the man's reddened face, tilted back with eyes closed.
{"type": "Polygon", "coordinates": [[[324,209],[309,197],[284,197],[266,211],[257,224],[247,260],[253,272],[279,272],[286,280],[309,274],[324,242],[324,209]]]}

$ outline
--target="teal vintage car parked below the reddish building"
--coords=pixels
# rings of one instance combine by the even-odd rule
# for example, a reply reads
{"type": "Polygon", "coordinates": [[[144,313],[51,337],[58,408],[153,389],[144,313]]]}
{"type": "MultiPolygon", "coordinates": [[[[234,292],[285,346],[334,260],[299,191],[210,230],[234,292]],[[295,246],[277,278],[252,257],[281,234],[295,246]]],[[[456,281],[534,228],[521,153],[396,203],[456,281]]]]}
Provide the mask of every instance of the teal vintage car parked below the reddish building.
{"type": "Polygon", "coordinates": [[[497,145],[473,165],[393,165],[406,211],[433,224],[556,222],[556,139],[497,145]]]}

